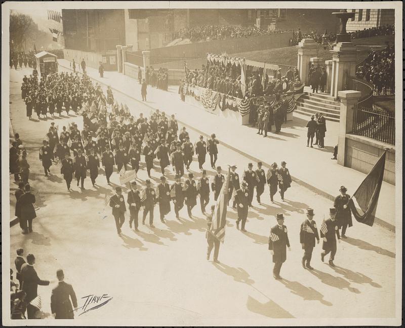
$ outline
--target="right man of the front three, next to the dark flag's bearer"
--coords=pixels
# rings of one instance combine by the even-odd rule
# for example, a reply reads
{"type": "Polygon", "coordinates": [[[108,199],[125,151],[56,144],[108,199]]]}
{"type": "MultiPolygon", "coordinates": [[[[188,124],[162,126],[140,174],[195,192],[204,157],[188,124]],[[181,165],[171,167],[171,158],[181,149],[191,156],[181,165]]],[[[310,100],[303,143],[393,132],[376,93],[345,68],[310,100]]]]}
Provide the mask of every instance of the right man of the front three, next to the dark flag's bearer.
{"type": "Polygon", "coordinates": [[[334,267],[335,264],[333,260],[335,260],[336,255],[336,236],[338,237],[338,241],[340,242],[340,234],[339,234],[339,227],[338,223],[335,220],[336,216],[336,208],[331,207],[329,209],[330,218],[322,222],[320,226],[320,238],[323,238],[322,249],[323,251],[320,254],[320,259],[323,262],[325,256],[330,252],[331,256],[329,258],[329,265],[334,267]]]}

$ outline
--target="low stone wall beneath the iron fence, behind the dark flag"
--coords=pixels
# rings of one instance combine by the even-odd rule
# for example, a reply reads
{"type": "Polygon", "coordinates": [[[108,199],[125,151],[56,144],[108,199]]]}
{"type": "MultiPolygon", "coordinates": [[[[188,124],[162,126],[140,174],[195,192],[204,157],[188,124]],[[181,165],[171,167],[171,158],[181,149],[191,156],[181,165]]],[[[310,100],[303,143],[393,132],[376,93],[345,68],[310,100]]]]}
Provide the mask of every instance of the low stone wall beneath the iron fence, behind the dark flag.
{"type": "MultiPolygon", "coordinates": [[[[393,146],[370,138],[346,134],[345,166],[367,174],[383,154],[384,148],[390,147],[393,146]]],[[[395,185],[395,148],[387,153],[384,181],[395,185]]]]}

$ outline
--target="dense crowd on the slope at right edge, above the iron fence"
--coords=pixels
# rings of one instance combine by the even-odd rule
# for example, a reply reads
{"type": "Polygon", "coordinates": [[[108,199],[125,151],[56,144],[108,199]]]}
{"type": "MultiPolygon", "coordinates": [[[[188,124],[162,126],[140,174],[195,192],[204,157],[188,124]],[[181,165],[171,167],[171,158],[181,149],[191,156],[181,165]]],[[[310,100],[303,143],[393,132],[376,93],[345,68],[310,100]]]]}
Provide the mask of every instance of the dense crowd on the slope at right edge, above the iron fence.
{"type": "Polygon", "coordinates": [[[357,67],[356,77],[374,85],[375,95],[393,94],[395,90],[395,49],[389,46],[372,51],[357,67]]]}

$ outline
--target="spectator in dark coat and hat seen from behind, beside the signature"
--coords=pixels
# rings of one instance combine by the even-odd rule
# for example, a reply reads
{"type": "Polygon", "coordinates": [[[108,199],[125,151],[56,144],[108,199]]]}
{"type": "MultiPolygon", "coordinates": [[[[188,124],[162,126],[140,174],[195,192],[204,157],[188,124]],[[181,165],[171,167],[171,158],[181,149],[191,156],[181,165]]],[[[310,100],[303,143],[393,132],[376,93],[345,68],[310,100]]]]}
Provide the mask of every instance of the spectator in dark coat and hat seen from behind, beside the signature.
{"type": "Polygon", "coordinates": [[[72,285],[63,281],[65,279],[65,275],[63,274],[62,269],[56,271],[56,277],[58,278],[59,283],[55,288],[52,289],[52,315],[55,319],[73,319],[73,308],[77,308],[76,294],[74,293],[72,285]]]}

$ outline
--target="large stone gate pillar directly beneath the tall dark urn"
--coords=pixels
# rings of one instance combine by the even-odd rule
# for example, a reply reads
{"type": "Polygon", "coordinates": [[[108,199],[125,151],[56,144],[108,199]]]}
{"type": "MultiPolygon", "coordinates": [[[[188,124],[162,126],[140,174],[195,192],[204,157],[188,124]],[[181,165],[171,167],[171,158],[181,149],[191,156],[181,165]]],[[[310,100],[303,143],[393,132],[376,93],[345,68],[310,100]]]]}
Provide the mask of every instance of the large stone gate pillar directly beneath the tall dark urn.
{"type": "Polygon", "coordinates": [[[351,42],[340,42],[332,50],[331,96],[345,90],[349,77],[356,73],[356,46],[351,42]]]}

